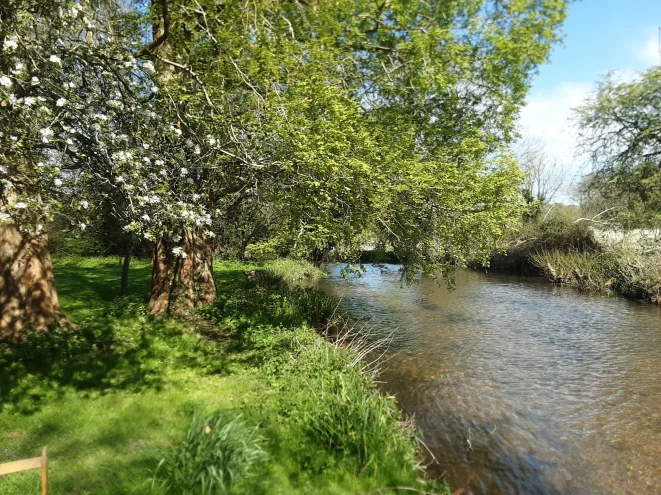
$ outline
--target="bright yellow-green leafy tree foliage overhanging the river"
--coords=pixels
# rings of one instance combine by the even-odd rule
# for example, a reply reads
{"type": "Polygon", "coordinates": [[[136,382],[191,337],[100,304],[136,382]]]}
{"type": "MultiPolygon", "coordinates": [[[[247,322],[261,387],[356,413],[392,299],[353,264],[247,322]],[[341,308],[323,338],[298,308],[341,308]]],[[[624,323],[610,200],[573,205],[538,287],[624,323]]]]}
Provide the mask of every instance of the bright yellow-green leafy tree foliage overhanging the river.
{"type": "MultiPolygon", "coordinates": [[[[159,26],[164,5],[153,9],[159,26]]],[[[234,173],[216,201],[259,201],[302,255],[332,246],[355,256],[371,231],[409,267],[433,272],[488,252],[519,211],[505,186],[520,180],[511,160],[488,157],[511,139],[565,8],[169,1],[170,65],[195,74],[169,81],[189,112],[204,87],[225,122],[222,166],[234,173]],[[492,179],[498,186],[483,185],[492,179]],[[478,224],[481,235],[461,231],[478,224]]]]}

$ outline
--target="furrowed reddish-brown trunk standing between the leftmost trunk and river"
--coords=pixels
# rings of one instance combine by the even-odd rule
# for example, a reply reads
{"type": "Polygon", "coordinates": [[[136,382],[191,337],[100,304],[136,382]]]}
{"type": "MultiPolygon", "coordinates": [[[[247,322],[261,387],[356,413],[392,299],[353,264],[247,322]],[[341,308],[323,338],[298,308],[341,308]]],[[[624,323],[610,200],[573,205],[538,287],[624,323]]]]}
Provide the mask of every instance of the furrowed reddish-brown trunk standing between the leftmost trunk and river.
{"type": "Polygon", "coordinates": [[[177,245],[185,256],[172,254],[171,237],[162,237],[154,247],[149,312],[155,316],[185,313],[216,299],[210,240],[193,231],[180,235],[183,242],[177,245]]]}

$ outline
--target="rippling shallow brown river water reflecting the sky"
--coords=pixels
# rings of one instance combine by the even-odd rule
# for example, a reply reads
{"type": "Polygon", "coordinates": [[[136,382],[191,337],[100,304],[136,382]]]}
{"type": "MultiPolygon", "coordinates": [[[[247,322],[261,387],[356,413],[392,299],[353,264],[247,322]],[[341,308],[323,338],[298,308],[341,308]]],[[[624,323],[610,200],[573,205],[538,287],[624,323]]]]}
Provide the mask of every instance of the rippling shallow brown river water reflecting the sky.
{"type": "Polygon", "coordinates": [[[396,266],[323,290],[396,329],[383,390],[414,414],[453,490],[661,494],[661,308],[541,278],[459,271],[448,292],[396,266]]]}

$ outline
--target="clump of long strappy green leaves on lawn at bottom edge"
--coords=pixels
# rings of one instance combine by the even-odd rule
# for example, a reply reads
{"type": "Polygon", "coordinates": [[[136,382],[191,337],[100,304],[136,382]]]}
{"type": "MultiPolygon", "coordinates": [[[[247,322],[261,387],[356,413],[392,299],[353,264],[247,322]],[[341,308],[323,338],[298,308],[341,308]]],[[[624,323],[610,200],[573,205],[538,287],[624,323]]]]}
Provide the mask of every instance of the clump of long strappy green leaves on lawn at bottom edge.
{"type": "Polygon", "coordinates": [[[183,442],[161,459],[153,487],[177,495],[229,493],[255,474],[266,456],[263,442],[240,416],[196,415],[183,442]]]}

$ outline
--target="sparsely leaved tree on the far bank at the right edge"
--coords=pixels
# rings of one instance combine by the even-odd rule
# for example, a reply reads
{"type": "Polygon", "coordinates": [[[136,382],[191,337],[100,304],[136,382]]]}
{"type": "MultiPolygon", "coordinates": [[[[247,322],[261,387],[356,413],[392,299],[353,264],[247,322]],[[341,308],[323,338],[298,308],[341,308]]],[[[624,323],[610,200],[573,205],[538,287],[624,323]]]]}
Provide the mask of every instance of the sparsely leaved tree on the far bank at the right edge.
{"type": "MultiPolygon", "coordinates": [[[[587,184],[619,207],[629,226],[661,221],[661,66],[629,82],[613,75],[576,110],[579,145],[594,173],[587,184]]],[[[594,196],[594,194],[593,194],[594,196]]]]}

